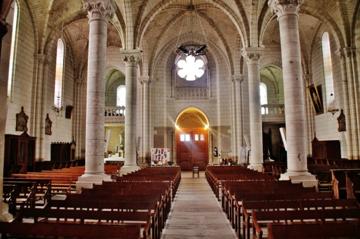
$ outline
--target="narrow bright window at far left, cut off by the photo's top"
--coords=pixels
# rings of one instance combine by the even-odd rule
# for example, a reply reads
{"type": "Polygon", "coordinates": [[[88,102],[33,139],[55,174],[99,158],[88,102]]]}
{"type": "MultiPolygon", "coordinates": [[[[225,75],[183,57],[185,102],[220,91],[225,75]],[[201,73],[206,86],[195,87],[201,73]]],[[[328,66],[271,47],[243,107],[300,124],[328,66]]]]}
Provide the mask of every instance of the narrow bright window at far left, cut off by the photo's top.
{"type": "Polygon", "coordinates": [[[17,22],[18,22],[18,6],[15,1],[14,7],[14,20],[12,23],[12,34],[11,34],[11,49],[10,49],[10,60],[9,60],[9,77],[7,81],[7,96],[12,96],[12,85],[13,77],[15,74],[15,55],[16,55],[16,42],[17,42],[17,22]]]}

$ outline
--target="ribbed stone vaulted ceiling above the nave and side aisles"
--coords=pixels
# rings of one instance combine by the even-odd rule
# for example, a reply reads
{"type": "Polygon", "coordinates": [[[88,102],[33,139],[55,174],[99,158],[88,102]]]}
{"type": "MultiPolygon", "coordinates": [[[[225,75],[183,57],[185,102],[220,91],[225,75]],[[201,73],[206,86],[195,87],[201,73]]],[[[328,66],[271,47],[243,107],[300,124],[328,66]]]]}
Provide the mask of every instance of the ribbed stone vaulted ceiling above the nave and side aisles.
{"type": "MultiPolygon", "coordinates": [[[[36,51],[45,53],[51,42],[61,36],[72,51],[76,75],[81,77],[87,62],[89,25],[81,0],[20,0],[33,18],[36,51]]],[[[239,74],[241,49],[247,46],[280,44],[277,17],[268,0],[114,0],[117,10],[108,27],[108,46],[123,49],[140,48],[144,52],[142,75],[152,75],[157,61],[171,55],[178,45],[204,44],[204,33],[213,57],[222,58],[229,74],[239,74]],[[199,20],[200,19],[200,20],[199,20]],[[200,26],[200,22],[202,27],[200,26]],[[182,27],[181,27],[182,26],[182,27]],[[181,29],[181,31],[180,31],[181,29]],[[180,36],[179,36],[180,33],[180,36]],[[179,39],[179,40],[178,40],[179,39]]],[[[299,11],[300,41],[304,70],[309,69],[312,46],[317,31],[324,25],[336,39],[339,48],[352,45],[354,19],[359,1],[304,0],[299,11]],[[324,11],[326,9],[326,11],[324,11]]],[[[280,66],[281,67],[281,66],[280,66]]]]}

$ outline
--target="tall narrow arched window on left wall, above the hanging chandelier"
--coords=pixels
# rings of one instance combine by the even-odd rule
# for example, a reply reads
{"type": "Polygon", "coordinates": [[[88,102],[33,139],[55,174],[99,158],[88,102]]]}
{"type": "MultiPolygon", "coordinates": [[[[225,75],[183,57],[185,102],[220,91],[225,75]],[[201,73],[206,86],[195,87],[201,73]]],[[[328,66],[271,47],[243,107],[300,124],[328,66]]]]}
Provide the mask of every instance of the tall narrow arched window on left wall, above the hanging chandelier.
{"type": "Polygon", "coordinates": [[[54,105],[58,105],[58,104],[62,105],[60,98],[63,96],[64,62],[65,62],[65,44],[63,39],[59,38],[58,48],[56,51],[54,105]]]}

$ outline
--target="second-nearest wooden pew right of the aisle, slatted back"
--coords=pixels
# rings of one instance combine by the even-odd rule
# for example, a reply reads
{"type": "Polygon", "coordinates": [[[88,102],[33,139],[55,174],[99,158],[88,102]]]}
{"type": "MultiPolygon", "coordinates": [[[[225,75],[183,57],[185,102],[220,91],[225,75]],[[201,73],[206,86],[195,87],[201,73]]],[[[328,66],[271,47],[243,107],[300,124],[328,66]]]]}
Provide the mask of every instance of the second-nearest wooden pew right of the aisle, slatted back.
{"type": "Polygon", "coordinates": [[[289,210],[289,211],[255,211],[252,209],[252,238],[262,239],[261,228],[268,223],[302,224],[302,223],[358,223],[360,209],[326,209],[326,210],[289,210]]]}

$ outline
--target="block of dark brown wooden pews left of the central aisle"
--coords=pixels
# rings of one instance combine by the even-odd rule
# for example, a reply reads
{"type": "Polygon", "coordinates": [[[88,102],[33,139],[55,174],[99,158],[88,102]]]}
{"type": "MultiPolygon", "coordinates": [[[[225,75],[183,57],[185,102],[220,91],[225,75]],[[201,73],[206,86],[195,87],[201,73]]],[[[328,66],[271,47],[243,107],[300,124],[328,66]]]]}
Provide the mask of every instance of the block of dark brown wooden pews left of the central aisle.
{"type": "Polygon", "coordinates": [[[42,208],[22,207],[12,222],[0,224],[0,232],[11,234],[11,238],[31,235],[158,239],[170,212],[171,191],[177,189],[172,188],[180,177],[180,167],[176,168],[142,169],[138,172],[156,175],[156,180],[142,181],[134,176],[136,179],[131,181],[132,176],[128,175],[124,182],[103,182],[92,189],[82,189],[80,194],[68,193],[64,200],[50,199],[42,208]],[[174,180],[169,180],[170,175],[174,180]],[[49,225],[52,231],[42,225],[49,225]],[[15,227],[21,229],[16,231],[15,227]]]}

